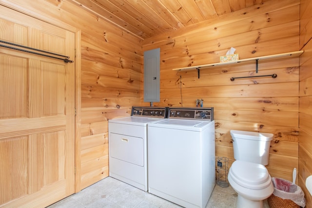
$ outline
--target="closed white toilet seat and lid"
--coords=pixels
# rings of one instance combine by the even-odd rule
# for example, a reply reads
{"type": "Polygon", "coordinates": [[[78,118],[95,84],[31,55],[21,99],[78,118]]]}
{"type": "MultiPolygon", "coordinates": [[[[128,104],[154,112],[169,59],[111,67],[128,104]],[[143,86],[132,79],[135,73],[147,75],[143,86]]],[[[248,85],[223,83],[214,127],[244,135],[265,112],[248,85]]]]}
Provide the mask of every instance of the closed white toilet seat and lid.
{"type": "Polygon", "coordinates": [[[229,174],[235,183],[248,189],[265,189],[272,183],[268,170],[261,164],[236,160],[229,174]]]}

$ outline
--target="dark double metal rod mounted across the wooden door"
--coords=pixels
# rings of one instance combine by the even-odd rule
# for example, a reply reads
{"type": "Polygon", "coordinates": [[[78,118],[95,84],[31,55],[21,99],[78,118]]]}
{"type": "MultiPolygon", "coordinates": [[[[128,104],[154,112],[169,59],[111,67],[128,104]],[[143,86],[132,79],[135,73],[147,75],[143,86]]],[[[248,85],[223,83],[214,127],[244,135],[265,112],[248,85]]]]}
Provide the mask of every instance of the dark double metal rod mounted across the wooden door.
{"type": "Polygon", "coordinates": [[[59,59],[59,60],[63,60],[65,63],[73,63],[74,62],[73,60],[69,60],[69,57],[63,56],[63,55],[60,55],[60,54],[56,54],[56,53],[52,53],[52,52],[48,52],[48,51],[43,51],[43,50],[39,50],[39,49],[36,49],[36,48],[31,48],[31,47],[19,45],[19,44],[16,44],[16,43],[7,42],[7,41],[4,41],[4,40],[0,40],[0,42],[6,43],[6,44],[9,44],[9,45],[18,46],[18,47],[21,47],[21,48],[26,48],[26,49],[30,49],[30,50],[34,50],[34,51],[43,52],[43,53],[46,53],[46,54],[59,56],[59,57],[53,57],[53,56],[49,56],[49,55],[46,55],[46,54],[40,54],[40,53],[37,53],[37,52],[28,51],[28,50],[24,50],[24,49],[20,49],[20,48],[15,48],[15,47],[12,47],[12,46],[0,44],[1,47],[10,48],[10,49],[14,49],[14,50],[30,53],[30,54],[36,54],[36,55],[39,55],[39,56],[56,58],[56,59],[59,59]],[[65,57],[65,58],[60,58],[60,57],[65,57]]]}

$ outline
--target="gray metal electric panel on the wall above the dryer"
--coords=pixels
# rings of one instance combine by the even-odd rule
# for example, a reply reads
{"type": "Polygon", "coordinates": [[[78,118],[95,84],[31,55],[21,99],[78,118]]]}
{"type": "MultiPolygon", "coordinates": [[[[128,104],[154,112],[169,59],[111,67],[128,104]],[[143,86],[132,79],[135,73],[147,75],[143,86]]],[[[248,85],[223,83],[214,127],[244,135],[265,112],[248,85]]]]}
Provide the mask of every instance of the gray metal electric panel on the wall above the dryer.
{"type": "Polygon", "coordinates": [[[160,48],[144,52],[144,102],[160,100],[160,48]]]}

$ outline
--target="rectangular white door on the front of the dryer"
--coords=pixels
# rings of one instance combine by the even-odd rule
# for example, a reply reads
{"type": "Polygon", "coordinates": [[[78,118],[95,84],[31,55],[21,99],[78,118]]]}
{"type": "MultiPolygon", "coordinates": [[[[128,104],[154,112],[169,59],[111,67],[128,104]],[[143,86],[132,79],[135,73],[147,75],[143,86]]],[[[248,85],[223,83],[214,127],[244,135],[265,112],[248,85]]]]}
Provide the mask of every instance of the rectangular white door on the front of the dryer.
{"type": "Polygon", "coordinates": [[[143,167],[143,138],[118,133],[109,138],[111,157],[143,167]]]}

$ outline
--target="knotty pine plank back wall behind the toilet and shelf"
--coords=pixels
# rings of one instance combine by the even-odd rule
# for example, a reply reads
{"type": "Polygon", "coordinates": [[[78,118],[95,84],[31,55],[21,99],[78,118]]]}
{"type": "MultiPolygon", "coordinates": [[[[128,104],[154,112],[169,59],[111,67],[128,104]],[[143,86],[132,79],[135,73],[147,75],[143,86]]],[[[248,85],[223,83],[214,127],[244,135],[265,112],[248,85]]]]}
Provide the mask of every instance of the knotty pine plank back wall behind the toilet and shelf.
{"type": "MultiPolygon", "coordinates": [[[[298,170],[299,58],[259,60],[200,71],[173,68],[219,62],[230,47],[239,58],[299,49],[300,0],[271,0],[240,12],[143,41],[143,51],[160,48],[160,102],[157,106],[215,107],[216,156],[234,161],[230,130],[274,134],[267,166],[272,177],[292,180],[298,170]],[[285,32],[287,31],[287,32],[285,32]],[[277,74],[277,78],[231,77],[277,74]]],[[[296,180],[298,183],[298,180],[296,180]]]]}

